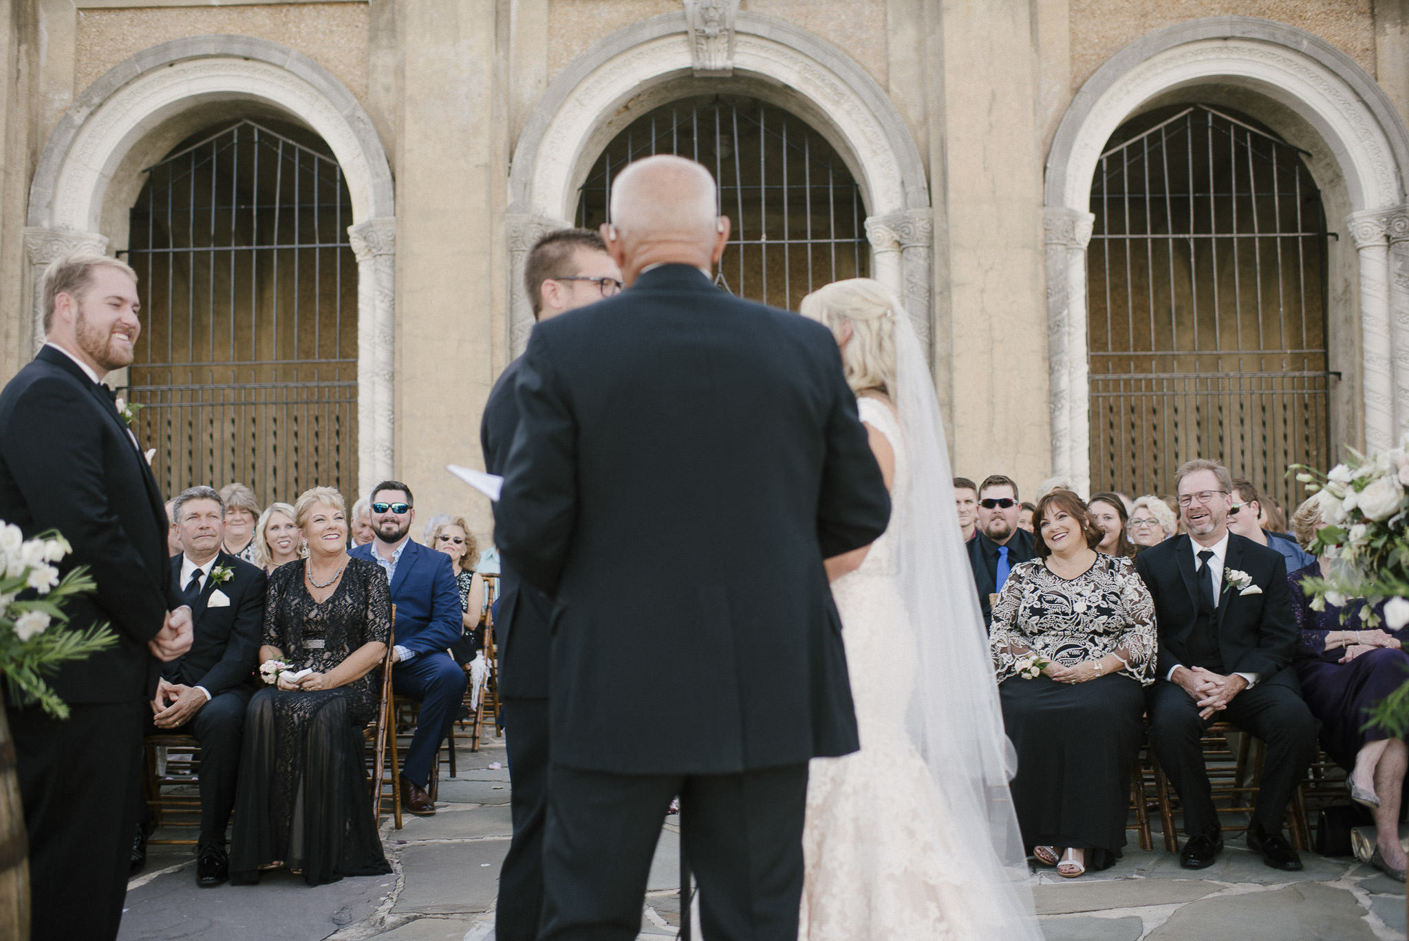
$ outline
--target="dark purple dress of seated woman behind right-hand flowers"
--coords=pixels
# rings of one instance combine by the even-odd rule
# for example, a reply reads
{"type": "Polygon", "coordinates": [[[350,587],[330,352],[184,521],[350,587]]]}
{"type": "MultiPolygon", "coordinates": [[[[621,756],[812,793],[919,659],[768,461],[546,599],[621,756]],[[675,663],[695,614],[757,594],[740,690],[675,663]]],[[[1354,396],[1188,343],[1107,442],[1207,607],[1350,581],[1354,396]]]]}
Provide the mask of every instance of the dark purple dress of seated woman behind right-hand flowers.
{"type": "MultiPolygon", "coordinates": [[[[1298,569],[1286,577],[1292,583],[1292,611],[1296,614],[1296,653],[1292,666],[1302,684],[1302,698],[1312,715],[1320,720],[1322,748],[1333,762],[1351,770],[1355,752],[1367,742],[1388,738],[1388,732],[1370,722],[1370,710],[1398,690],[1409,679],[1409,653],[1391,648],[1375,648],[1350,663],[1337,663],[1346,656],[1344,648],[1326,649],[1326,635],[1332,631],[1367,631],[1360,611],[1364,601],[1353,601],[1346,614],[1327,602],[1324,611],[1312,611],[1310,598],[1302,591],[1302,581],[1320,576],[1316,564],[1298,569]]],[[[1379,611],[1385,629],[1384,611],[1379,611]]],[[[1402,643],[1409,643],[1409,628],[1392,631],[1402,643]]]]}

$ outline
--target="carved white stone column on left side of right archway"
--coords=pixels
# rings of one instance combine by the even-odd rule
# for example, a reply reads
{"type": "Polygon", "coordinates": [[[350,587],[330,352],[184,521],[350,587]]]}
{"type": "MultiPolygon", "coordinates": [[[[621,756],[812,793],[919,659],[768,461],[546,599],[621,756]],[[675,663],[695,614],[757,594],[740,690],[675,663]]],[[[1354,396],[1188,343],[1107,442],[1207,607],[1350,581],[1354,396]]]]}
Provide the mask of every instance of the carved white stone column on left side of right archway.
{"type": "Polygon", "coordinates": [[[1067,477],[1082,494],[1091,492],[1086,244],[1095,220],[1067,206],[1043,209],[1053,474],[1067,477]]]}

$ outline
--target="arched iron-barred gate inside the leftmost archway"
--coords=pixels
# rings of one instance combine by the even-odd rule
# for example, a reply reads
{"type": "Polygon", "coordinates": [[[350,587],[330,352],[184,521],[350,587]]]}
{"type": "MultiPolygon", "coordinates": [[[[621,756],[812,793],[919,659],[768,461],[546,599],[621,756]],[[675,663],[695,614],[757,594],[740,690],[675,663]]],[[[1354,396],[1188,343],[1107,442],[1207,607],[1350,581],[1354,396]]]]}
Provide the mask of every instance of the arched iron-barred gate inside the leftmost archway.
{"type": "Polygon", "coordinates": [[[145,308],[128,394],[169,494],[261,502],[356,485],[356,260],[337,161],[240,121],[148,168],[128,262],[145,308]]]}

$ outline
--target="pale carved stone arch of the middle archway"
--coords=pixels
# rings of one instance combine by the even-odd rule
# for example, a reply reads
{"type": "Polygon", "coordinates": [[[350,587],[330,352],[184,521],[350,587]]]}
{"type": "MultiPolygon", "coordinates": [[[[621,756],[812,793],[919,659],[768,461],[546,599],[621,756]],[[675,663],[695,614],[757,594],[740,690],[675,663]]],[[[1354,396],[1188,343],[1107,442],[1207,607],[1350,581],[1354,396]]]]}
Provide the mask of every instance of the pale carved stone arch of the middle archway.
{"type": "Polygon", "coordinates": [[[523,350],[533,329],[527,298],[517,291],[528,248],[545,231],[571,224],[576,188],[616,131],[675,97],[676,82],[692,75],[755,79],[750,93],[795,110],[828,138],[862,189],[874,277],[900,293],[929,346],[929,183],[885,92],[844,52],[781,20],[737,13],[731,31],[706,37],[692,32],[682,11],[619,30],[578,56],[524,128],[510,175],[511,353],[523,350]]]}

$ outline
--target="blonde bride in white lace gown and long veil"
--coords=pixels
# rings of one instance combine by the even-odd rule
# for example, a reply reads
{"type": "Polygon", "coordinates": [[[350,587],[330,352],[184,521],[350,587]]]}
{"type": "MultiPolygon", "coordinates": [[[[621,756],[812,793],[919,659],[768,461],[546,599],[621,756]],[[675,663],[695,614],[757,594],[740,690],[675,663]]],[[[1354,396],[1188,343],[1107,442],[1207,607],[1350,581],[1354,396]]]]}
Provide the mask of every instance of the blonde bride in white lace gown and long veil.
{"type": "Polygon", "coordinates": [[[814,759],[803,941],[1040,941],[929,368],[881,284],[809,295],[831,327],[890,487],[890,528],[828,560],[861,751],[814,759]]]}

